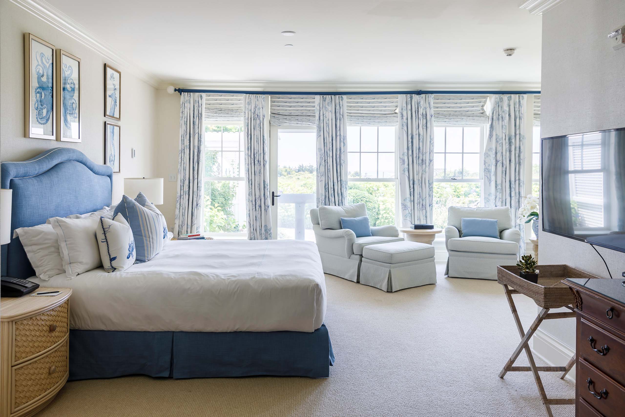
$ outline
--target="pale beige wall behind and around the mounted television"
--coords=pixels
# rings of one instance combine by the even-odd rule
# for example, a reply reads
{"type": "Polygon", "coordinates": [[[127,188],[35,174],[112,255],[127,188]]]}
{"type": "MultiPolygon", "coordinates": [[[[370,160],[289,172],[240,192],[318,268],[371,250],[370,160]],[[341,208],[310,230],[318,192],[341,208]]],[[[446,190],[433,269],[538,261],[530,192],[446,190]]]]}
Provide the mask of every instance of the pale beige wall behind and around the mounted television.
{"type": "MultiPolygon", "coordinates": [[[[625,24],[623,0],[567,0],[542,16],[541,136],[625,127],[625,49],[607,39],[625,24]]],[[[569,264],[608,278],[588,244],[541,232],[542,264],[569,264]]],[[[625,254],[597,248],[614,278],[625,271],[625,254]]],[[[541,329],[572,349],[574,319],[546,321],[541,329]]]]}

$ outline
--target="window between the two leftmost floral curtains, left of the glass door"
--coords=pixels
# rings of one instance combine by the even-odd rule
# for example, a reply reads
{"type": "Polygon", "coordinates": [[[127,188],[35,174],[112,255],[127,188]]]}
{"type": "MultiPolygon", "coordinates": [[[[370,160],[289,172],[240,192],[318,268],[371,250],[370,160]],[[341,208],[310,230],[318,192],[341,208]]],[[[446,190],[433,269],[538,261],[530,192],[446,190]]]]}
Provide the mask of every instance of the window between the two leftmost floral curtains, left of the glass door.
{"type": "Polygon", "coordinates": [[[243,127],[204,126],[204,232],[246,233],[243,127]]]}

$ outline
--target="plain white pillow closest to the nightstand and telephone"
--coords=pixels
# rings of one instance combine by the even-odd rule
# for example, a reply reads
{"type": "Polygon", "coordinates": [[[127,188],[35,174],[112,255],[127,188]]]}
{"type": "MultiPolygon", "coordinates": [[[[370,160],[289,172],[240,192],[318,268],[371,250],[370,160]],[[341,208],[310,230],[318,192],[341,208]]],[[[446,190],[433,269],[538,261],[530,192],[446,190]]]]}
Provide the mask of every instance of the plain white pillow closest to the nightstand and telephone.
{"type": "Polygon", "coordinates": [[[13,237],[17,236],[39,278],[50,279],[65,272],[59,241],[52,226],[39,224],[31,228],[15,229],[13,237]]]}

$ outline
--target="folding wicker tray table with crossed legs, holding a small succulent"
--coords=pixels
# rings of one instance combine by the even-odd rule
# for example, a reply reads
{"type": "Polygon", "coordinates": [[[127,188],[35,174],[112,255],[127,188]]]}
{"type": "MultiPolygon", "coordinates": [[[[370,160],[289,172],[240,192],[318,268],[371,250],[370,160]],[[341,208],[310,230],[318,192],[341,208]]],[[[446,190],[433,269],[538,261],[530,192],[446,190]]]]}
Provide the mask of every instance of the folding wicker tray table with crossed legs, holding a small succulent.
{"type": "Polygon", "coordinates": [[[519,343],[519,346],[514,350],[514,353],[512,353],[512,356],[508,359],[504,368],[501,369],[499,378],[503,378],[507,372],[531,372],[534,375],[534,381],[536,382],[536,387],[538,388],[538,393],[541,396],[547,416],[552,417],[551,405],[574,405],[575,399],[547,398],[538,371],[560,372],[560,379],[562,379],[575,364],[575,355],[573,355],[566,366],[536,366],[534,356],[532,356],[532,352],[529,349],[529,339],[536,333],[538,326],[540,326],[543,320],[575,317],[572,306],[579,307],[581,303],[579,298],[577,298],[577,294],[574,293],[569,286],[562,283],[563,279],[599,277],[568,265],[541,265],[537,266],[536,269],[539,270],[538,283],[534,284],[519,276],[518,266],[497,266],[497,282],[504,287],[506,298],[510,310],[512,311],[512,317],[514,317],[514,322],[521,336],[521,343],[519,343]],[[523,331],[521,319],[519,319],[516,306],[514,306],[514,300],[512,300],[512,294],[524,294],[533,299],[537,306],[542,308],[541,312],[536,316],[534,323],[529,326],[527,333],[523,331]],[[561,307],[566,307],[571,311],[549,313],[550,309],[561,307]],[[527,354],[529,366],[513,366],[514,361],[519,357],[522,350],[525,350],[527,354]]]}

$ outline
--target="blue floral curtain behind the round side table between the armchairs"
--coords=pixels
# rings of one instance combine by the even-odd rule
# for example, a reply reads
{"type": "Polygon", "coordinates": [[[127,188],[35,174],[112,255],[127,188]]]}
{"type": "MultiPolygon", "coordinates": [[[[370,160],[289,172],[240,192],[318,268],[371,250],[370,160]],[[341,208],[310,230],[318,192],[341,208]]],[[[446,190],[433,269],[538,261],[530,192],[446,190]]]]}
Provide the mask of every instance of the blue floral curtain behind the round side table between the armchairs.
{"type": "Polygon", "coordinates": [[[434,124],[432,94],[399,96],[399,199],[401,223],[432,223],[434,124]]]}

